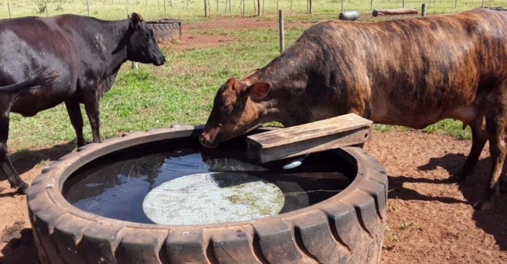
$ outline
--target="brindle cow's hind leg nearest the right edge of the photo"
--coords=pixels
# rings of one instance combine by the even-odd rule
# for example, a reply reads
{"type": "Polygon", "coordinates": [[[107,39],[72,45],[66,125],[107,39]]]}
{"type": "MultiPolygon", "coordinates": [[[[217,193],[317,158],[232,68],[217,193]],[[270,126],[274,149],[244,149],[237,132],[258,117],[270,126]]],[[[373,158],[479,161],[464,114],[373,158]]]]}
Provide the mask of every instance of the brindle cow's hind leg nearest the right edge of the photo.
{"type": "Polygon", "coordinates": [[[491,107],[486,109],[486,130],[489,137],[491,173],[482,199],[474,205],[474,208],[479,210],[489,210],[494,207],[494,198],[498,195],[500,174],[505,161],[505,152],[507,151],[503,140],[507,121],[507,102],[505,102],[500,91],[500,95],[492,97],[495,98],[495,102],[488,102],[491,107]]]}

